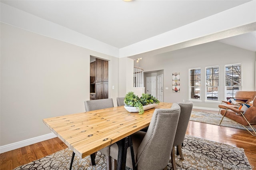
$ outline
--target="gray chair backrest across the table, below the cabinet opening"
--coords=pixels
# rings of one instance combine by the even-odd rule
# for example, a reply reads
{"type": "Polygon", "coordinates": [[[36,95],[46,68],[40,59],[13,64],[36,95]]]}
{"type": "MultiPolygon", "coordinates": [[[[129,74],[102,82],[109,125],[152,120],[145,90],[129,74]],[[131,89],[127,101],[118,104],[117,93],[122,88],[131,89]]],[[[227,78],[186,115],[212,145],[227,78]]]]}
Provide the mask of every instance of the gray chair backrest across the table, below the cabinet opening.
{"type": "Polygon", "coordinates": [[[98,99],[84,101],[85,111],[94,111],[114,107],[113,99],[98,99]]]}

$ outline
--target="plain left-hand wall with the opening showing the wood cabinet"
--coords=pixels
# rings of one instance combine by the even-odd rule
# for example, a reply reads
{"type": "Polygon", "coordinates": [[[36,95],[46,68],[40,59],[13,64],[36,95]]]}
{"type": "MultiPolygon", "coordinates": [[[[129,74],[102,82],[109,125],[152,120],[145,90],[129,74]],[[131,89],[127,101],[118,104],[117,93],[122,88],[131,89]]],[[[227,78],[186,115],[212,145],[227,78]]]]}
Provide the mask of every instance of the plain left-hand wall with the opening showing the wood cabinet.
{"type": "Polygon", "coordinates": [[[49,134],[45,118],[85,111],[90,55],[109,60],[116,103],[118,58],[1,23],[0,146],[49,134]]]}

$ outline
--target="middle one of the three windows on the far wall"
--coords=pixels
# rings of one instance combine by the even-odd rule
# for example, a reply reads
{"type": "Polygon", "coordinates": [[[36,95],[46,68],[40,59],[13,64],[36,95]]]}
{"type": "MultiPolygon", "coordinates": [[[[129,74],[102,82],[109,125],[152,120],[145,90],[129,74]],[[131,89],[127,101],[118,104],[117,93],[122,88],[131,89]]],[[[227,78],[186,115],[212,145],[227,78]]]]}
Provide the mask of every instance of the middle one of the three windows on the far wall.
{"type": "Polygon", "coordinates": [[[219,67],[206,67],[206,100],[218,101],[219,67]]]}

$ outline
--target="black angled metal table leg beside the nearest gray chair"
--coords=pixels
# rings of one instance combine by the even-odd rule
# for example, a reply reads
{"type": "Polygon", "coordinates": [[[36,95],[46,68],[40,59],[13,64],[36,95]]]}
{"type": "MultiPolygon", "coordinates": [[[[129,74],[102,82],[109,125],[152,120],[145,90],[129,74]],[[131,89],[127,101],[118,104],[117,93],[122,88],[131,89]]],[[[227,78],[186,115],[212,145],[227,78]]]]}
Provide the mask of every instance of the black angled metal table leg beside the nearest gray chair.
{"type": "Polygon", "coordinates": [[[134,151],[133,151],[133,145],[132,145],[132,137],[127,136],[123,138],[122,140],[119,140],[116,142],[118,145],[118,158],[117,158],[117,170],[124,170],[126,166],[126,154],[127,154],[127,148],[130,147],[131,149],[131,156],[132,156],[132,166],[135,170],[135,160],[134,160],[134,151]]]}

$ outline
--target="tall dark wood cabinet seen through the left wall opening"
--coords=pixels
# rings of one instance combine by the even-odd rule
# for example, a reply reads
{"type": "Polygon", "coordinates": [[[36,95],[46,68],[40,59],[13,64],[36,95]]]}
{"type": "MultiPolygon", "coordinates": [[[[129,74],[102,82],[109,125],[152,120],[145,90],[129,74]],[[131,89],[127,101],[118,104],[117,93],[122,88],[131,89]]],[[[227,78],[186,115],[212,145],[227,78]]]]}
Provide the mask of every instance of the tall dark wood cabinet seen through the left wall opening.
{"type": "Polygon", "coordinates": [[[91,100],[108,99],[108,61],[96,58],[90,63],[90,83],[94,84],[95,91],[95,98],[90,96],[91,100]]]}

